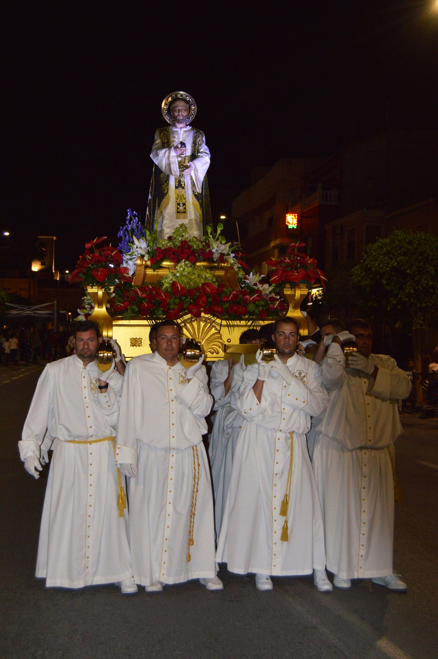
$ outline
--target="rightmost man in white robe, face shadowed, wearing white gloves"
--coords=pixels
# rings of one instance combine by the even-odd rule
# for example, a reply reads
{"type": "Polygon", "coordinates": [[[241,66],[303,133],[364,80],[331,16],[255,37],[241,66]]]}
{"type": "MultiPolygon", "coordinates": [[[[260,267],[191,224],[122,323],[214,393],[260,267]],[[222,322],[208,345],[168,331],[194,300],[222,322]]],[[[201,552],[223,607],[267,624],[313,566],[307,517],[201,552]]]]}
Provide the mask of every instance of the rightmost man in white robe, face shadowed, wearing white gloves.
{"type": "Polygon", "coordinates": [[[397,399],[408,396],[410,382],[393,358],[371,353],[367,322],[352,321],[351,333],[358,352],[348,355],[348,368],[342,334],[321,362],[330,404],[314,418],[309,436],[327,569],[337,588],[350,588],[351,579],[363,577],[405,591],[406,584],[393,574],[394,442],[402,432],[397,399]]]}

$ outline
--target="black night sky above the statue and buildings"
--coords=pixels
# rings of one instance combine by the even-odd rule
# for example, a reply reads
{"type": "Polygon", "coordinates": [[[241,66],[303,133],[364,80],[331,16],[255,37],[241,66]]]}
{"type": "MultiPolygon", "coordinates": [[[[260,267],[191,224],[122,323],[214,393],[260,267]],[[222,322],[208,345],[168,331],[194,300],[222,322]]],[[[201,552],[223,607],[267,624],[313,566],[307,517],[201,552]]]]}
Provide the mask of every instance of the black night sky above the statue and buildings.
{"type": "Polygon", "coordinates": [[[390,128],[437,128],[433,2],[9,3],[0,230],[84,243],[144,219],[170,92],[194,96],[213,221],[254,165],[325,157],[390,128]],[[288,9],[285,9],[288,6],[288,9]],[[257,8],[260,9],[257,9],[257,8]]]}

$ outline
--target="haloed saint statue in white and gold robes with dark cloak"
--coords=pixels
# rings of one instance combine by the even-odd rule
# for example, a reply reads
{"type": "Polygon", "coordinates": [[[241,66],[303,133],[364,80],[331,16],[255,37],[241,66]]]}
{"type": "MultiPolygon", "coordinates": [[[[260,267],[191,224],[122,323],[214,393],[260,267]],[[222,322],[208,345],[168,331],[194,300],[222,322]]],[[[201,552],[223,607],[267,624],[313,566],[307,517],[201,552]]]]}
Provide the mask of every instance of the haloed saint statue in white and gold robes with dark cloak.
{"type": "Polygon", "coordinates": [[[196,103],[186,92],[173,92],[163,101],[161,111],[169,126],[155,132],[146,229],[157,231],[161,240],[184,222],[190,236],[201,238],[205,225],[211,225],[210,152],[202,130],[190,126],[196,103]]]}

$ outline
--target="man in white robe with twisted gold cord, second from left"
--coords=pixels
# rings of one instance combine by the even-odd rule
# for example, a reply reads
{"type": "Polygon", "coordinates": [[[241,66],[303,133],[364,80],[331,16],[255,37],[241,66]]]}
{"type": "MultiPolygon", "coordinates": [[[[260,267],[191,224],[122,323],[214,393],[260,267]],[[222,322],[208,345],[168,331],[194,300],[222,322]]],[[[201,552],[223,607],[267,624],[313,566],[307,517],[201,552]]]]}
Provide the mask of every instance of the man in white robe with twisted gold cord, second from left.
{"type": "Polygon", "coordinates": [[[131,477],[130,543],[136,583],[147,592],[216,576],[213,495],[202,434],[212,399],[202,359],[184,368],[180,328],[156,328],[156,351],[128,363],[124,376],[117,461],[131,477]]]}

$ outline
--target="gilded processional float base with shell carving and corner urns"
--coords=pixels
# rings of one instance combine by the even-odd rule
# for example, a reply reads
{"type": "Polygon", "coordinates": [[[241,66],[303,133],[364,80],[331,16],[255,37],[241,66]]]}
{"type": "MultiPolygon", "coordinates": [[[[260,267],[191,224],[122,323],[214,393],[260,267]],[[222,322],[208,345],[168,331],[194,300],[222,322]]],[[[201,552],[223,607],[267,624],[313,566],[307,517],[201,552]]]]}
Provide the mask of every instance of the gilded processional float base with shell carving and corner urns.
{"type": "MultiPolygon", "coordinates": [[[[156,284],[161,277],[175,270],[176,264],[165,260],[155,271],[151,268],[149,260],[141,256],[136,259],[136,270],[134,273],[134,285],[156,284]]],[[[218,264],[214,261],[200,261],[196,268],[206,268],[211,271],[218,283],[223,283],[228,289],[240,291],[236,272],[233,266],[225,263],[218,264]]],[[[121,347],[122,353],[127,360],[138,355],[151,352],[149,347],[149,332],[156,320],[148,318],[125,319],[120,316],[111,317],[107,312],[108,295],[99,286],[88,286],[88,295],[94,302],[94,311],[90,320],[99,325],[103,338],[115,339],[121,347]]],[[[283,289],[281,297],[287,304],[285,316],[293,318],[300,329],[300,337],[308,337],[308,322],[300,311],[300,304],[308,295],[308,285],[295,283],[283,289]]],[[[275,318],[265,318],[258,321],[258,327],[272,323],[275,318]]],[[[205,362],[214,362],[217,359],[233,357],[238,361],[241,355],[246,355],[244,360],[247,364],[254,362],[256,351],[260,345],[241,345],[239,337],[242,331],[248,329],[254,323],[245,320],[226,321],[220,318],[212,320],[211,316],[202,313],[200,318],[194,318],[191,314],[180,316],[177,320],[182,329],[182,335],[186,339],[184,343],[181,360],[186,362],[197,361],[202,353],[205,354],[205,362]]],[[[265,358],[272,357],[273,350],[264,349],[265,358]]],[[[99,350],[97,361],[101,370],[108,370],[113,360],[113,348],[110,343],[103,341],[99,350]]]]}

